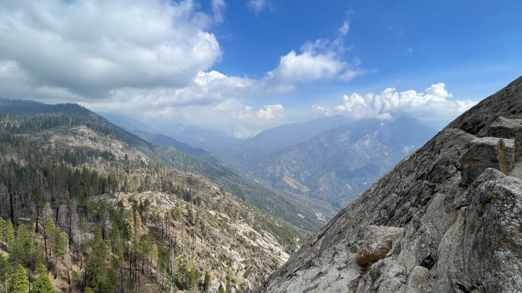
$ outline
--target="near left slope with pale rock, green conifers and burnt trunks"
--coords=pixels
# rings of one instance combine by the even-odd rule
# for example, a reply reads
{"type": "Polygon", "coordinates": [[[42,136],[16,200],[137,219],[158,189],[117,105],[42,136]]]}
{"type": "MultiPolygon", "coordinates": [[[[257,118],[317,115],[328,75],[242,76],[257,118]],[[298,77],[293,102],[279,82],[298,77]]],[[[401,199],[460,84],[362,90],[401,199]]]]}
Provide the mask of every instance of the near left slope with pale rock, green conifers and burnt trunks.
{"type": "Polygon", "coordinates": [[[0,114],[0,271],[10,289],[25,269],[33,286],[48,275],[64,292],[248,291],[305,239],[108,128],[13,112],[0,114]]]}

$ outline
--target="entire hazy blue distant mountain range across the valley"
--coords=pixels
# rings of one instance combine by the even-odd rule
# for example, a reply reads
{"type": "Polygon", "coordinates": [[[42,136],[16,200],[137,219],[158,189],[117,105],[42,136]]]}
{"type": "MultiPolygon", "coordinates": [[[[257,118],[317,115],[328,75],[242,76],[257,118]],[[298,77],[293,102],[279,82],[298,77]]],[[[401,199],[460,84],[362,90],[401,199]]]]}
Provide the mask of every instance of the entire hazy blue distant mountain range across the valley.
{"type": "Polygon", "coordinates": [[[269,187],[321,199],[336,208],[436,134],[412,117],[358,121],[326,117],[282,125],[244,140],[185,125],[161,129],[172,137],[132,132],[149,142],[232,167],[269,187]]]}

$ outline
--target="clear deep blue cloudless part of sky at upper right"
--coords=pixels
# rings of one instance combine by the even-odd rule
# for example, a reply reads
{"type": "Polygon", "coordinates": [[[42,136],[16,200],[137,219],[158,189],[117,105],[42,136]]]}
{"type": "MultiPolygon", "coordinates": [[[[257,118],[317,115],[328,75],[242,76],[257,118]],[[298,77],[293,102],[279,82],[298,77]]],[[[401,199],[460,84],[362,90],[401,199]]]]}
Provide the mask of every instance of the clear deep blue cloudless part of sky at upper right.
{"type": "Polygon", "coordinates": [[[272,1],[270,6],[255,17],[243,2],[228,4],[216,31],[223,60],[212,69],[262,78],[282,54],[307,41],[335,38],[349,19],[345,42],[352,47],[346,60],[359,58],[377,72],[350,83],[330,82],[333,91],[422,90],[445,82],[459,97],[477,99],[522,74],[519,1],[272,1]]]}

